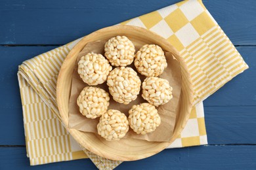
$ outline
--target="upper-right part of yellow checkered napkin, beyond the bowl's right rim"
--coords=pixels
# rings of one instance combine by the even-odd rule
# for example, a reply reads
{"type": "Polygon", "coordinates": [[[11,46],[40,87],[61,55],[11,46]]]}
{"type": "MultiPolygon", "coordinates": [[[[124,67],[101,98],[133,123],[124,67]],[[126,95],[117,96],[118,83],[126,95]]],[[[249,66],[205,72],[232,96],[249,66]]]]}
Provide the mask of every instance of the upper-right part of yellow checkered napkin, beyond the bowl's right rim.
{"type": "Polygon", "coordinates": [[[121,24],[154,31],[179,50],[192,74],[194,105],[248,67],[200,0],[182,1],[121,24]]]}

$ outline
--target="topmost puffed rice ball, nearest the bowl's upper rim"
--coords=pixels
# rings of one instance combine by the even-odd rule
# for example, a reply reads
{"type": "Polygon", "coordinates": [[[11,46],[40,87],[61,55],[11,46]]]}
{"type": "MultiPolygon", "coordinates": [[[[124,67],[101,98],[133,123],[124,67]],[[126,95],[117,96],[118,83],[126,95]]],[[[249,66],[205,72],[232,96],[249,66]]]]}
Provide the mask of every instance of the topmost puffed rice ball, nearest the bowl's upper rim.
{"type": "Polygon", "coordinates": [[[112,65],[127,66],[133,62],[135,46],[127,37],[113,37],[106,42],[104,47],[105,56],[112,65]]]}

